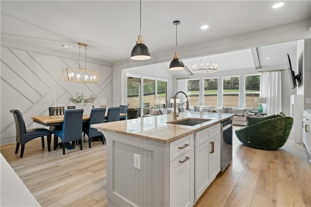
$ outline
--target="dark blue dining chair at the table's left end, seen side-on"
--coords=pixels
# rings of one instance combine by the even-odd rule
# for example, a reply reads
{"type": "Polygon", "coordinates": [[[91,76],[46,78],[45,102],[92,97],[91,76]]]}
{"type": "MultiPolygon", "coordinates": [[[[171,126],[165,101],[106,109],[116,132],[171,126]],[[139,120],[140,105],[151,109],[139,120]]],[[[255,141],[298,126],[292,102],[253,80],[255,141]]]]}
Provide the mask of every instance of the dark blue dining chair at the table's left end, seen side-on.
{"type": "Polygon", "coordinates": [[[15,127],[16,127],[16,149],[15,154],[18,153],[19,145],[21,145],[20,156],[23,157],[25,144],[34,139],[41,137],[42,148],[44,148],[44,137],[48,139],[48,151],[51,151],[51,132],[45,128],[26,129],[24,118],[19,110],[11,109],[10,112],[13,114],[15,127]]]}

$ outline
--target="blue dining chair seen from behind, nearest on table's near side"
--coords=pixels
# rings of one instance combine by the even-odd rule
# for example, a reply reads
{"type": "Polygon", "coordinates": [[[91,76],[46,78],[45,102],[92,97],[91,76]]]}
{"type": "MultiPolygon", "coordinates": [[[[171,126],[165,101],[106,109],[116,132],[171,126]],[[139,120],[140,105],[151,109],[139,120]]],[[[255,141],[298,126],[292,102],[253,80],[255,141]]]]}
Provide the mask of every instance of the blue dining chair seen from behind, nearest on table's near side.
{"type": "MultiPolygon", "coordinates": [[[[63,143],[79,140],[80,150],[82,150],[82,119],[83,109],[66,109],[62,129],[54,129],[54,150],[61,138],[63,143]]],[[[63,155],[65,155],[65,144],[63,144],[63,155]]]]}

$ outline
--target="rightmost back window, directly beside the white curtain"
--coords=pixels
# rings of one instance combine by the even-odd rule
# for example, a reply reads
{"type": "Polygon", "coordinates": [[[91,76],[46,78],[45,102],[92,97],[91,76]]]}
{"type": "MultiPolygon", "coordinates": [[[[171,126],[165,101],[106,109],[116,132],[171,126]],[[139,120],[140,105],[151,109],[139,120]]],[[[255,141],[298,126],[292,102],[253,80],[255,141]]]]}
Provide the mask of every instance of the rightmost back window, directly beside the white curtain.
{"type": "Polygon", "coordinates": [[[257,108],[255,97],[259,97],[260,75],[245,75],[245,106],[257,108]]]}

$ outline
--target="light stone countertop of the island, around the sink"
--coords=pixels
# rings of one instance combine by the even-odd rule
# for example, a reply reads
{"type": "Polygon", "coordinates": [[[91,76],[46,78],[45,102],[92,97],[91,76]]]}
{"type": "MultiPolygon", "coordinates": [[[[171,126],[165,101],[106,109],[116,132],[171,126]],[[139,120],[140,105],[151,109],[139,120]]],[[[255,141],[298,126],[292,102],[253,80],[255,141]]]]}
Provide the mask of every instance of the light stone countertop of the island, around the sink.
{"type": "Polygon", "coordinates": [[[172,124],[167,122],[173,121],[173,114],[167,114],[124,121],[93,124],[92,127],[97,128],[100,131],[114,132],[131,137],[167,143],[205,129],[216,123],[228,120],[235,115],[236,114],[188,111],[179,113],[177,120],[185,118],[197,118],[210,119],[210,121],[206,121],[194,126],[172,124]]]}

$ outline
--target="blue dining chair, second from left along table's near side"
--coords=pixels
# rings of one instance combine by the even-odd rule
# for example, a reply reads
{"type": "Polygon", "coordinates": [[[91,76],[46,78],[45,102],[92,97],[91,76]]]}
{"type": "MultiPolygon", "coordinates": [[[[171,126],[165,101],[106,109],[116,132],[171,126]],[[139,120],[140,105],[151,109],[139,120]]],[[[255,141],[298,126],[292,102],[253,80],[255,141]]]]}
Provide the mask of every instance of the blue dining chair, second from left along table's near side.
{"type": "Polygon", "coordinates": [[[91,124],[104,123],[105,122],[105,108],[92,108],[91,114],[89,116],[89,121],[83,125],[83,132],[88,137],[88,147],[91,148],[91,139],[95,137],[102,136],[104,144],[104,135],[102,132],[91,127],[91,124]]]}

